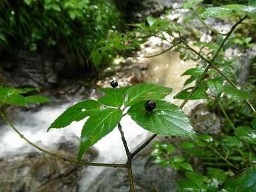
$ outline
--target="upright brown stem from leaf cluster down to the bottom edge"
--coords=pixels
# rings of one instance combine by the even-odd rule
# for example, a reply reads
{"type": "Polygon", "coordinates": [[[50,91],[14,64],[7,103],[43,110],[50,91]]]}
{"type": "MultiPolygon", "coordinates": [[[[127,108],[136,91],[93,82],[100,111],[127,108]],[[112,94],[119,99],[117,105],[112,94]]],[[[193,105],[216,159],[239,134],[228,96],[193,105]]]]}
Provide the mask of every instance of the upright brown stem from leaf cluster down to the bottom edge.
{"type": "Polygon", "coordinates": [[[134,192],[134,184],[133,184],[133,177],[132,177],[132,157],[133,156],[132,156],[132,154],[131,154],[128,146],[127,146],[127,141],[125,140],[124,131],[122,131],[122,126],[121,126],[120,122],[118,123],[117,126],[118,126],[118,129],[120,131],[121,138],[122,138],[124,148],[125,148],[125,152],[126,152],[126,155],[127,155],[126,168],[127,168],[128,176],[129,176],[130,190],[131,190],[131,192],[134,192]]]}

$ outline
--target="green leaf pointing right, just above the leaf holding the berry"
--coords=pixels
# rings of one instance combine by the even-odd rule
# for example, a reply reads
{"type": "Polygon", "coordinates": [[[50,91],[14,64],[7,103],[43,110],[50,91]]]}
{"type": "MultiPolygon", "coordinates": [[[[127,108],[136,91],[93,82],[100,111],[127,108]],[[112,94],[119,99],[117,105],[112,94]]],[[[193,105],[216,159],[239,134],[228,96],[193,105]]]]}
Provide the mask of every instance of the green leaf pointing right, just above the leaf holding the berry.
{"type": "Polygon", "coordinates": [[[127,107],[132,106],[141,100],[164,99],[164,97],[170,93],[172,93],[172,88],[167,88],[165,86],[159,86],[152,83],[137,84],[136,86],[132,86],[129,88],[129,90],[127,90],[124,104],[125,107],[127,107]]]}

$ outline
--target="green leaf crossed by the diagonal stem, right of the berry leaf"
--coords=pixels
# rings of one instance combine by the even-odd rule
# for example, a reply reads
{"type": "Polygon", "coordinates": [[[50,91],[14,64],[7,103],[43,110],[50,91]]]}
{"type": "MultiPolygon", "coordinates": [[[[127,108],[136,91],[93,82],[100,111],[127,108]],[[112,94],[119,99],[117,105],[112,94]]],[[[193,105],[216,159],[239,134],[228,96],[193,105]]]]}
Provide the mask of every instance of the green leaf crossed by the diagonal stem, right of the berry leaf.
{"type": "MultiPolygon", "coordinates": [[[[177,93],[177,95],[175,95],[173,99],[183,99],[183,100],[187,99],[192,89],[193,87],[189,87],[182,90],[181,92],[177,93]]],[[[208,98],[209,98],[208,94],[205,92],[205,90],[203,88],[198,87],[196,88],[195,92],[191,95],[189,100],[208,99],[208,98]]]]}

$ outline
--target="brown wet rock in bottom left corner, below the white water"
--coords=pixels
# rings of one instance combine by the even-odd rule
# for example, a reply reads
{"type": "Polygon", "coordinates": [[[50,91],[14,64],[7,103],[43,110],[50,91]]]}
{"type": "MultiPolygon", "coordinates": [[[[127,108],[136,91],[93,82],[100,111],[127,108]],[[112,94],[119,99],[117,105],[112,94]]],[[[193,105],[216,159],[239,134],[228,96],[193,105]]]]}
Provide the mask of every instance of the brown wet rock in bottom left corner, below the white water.
{"type": "MultiPolygon", "coordinates": [[[[54,153],[76,159],[77,147],[74,143],[61,141],[55,146],[58,149],[54,153]]],[[[96,156],[97,152],[91,148],[85,158],[87,161],[92,161],[96,156]]],[[[2,158],[0,191],[76,192],[79,190],[82,168],[81,164],[63,161],[37,151],[2,158]]]]}

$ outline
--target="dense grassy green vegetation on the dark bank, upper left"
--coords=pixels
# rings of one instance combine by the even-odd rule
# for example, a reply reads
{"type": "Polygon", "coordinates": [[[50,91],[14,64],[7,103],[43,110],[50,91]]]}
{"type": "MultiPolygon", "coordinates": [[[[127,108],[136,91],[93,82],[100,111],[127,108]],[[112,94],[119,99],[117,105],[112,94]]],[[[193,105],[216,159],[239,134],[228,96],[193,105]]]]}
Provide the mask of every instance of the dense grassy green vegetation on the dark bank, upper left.
{"type": "MultiPolygon", "coordinates": [[[[31,52],[56,47],[91,65],[93,47],[122,26],[122,15],[113,1],[48,0],[0,2],[0,53],[22,45],[31,52]]],[[[104,62],[113,59],[113,52],[104,62]]],[[[98,66],[96,66],[98,68],[98,66]]]]}

